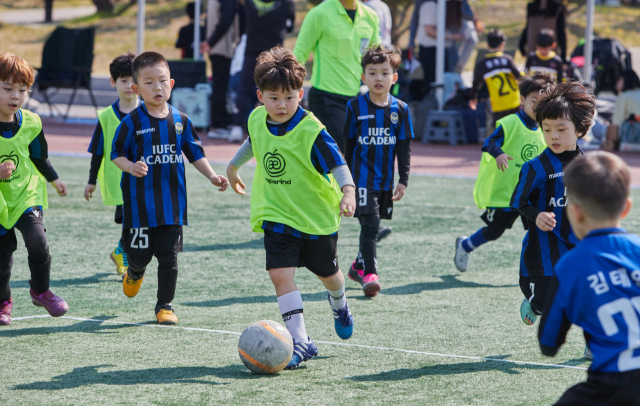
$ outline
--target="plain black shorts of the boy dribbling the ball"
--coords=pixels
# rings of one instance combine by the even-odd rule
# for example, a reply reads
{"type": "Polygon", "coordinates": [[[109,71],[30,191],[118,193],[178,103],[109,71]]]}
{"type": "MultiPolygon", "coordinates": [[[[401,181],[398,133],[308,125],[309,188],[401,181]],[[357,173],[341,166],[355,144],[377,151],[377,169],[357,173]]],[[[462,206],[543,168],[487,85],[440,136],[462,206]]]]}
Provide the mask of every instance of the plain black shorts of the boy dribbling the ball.
{"type": "Polygon", "coordinates": [[[273,268],[307,268],[314,274],[334,275],[338,266],[338,234],[321,235],[307,240],[291,234],[264,230],[267,270],[273,268]]]}

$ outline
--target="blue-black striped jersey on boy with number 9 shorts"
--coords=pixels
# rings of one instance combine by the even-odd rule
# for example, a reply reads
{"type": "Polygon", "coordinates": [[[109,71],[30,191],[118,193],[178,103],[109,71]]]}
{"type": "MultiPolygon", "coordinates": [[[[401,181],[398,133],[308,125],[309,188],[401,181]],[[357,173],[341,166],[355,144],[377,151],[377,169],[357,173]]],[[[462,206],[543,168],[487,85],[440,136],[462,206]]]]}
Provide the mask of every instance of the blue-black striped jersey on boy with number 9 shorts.
{"type": "Polygon", "coordinates": [[[389,95],[389,103],[381,107],[369,93],[354,97],[347,103],[344,137],[357,188],[393,190],[396,156],[400,183],[408,185],[413,125],[406,103],[389,95]]]}

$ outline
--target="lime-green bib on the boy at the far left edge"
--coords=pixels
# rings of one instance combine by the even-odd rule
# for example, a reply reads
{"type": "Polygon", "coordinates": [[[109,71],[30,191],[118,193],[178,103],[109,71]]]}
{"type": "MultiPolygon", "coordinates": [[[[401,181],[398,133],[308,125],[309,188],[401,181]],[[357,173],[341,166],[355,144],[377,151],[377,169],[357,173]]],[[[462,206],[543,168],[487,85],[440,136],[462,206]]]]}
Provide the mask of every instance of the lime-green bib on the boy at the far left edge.
{"type": "Polygon", "coordinates": [[[0,163],[13,161],[15,171],[8,179],[0,179],[0,225],[12,228],[29,207],[48,208],[47,182],[29,158],[29,144],[42,130],[37,114],[21,109],[22,125],[12,138],[0,137],[0,163]],[[4,202],[2,202],[4,201],[4,202]]]}

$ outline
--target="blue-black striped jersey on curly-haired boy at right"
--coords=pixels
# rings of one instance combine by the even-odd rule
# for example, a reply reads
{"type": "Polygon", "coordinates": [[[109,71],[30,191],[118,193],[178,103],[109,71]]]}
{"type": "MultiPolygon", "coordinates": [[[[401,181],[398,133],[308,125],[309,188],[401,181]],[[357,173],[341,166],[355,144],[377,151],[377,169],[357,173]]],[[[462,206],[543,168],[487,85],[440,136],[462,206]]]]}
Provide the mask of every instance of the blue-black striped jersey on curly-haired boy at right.
{"type": "Polygon", "coordinates": [[[525,162],[520,179],[511,196],[511,206],[529,223],[522,241],[520,273],[522,276],[551,276],[553,265],[578,242],[566,214],[567,192],[564,168],[582,154],[580,149],[554,154],[549,148],[525,162]],[[555,214],[556,227],[549,232],[536,226],[541,212],[555,214]]]}

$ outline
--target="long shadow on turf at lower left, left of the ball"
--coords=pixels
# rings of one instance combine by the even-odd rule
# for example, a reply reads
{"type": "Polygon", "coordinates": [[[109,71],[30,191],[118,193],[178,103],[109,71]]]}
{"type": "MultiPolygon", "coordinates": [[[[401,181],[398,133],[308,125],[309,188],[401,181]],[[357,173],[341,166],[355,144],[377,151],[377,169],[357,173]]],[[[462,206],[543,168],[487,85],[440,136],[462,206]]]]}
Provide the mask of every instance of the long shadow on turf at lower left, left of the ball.
{"type": "Polygon", "coordinates": [[[220,368],[210,367],[170,367],[137,370],[99,371],[114,365],[93,365],[74,368],[73,371],[54,376],[51,381],[33,382],[15,385],[14,390],[60,390],[73,389],[87,385],[166,385],[173,383],[226,385],[226,382],[214,382],[201,379],[214,376],[222,379],[256,379],[265,375],[252,374],[242,365],[228,365],[220,368]]]}

